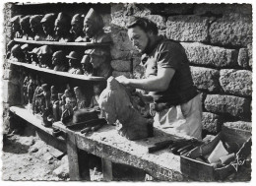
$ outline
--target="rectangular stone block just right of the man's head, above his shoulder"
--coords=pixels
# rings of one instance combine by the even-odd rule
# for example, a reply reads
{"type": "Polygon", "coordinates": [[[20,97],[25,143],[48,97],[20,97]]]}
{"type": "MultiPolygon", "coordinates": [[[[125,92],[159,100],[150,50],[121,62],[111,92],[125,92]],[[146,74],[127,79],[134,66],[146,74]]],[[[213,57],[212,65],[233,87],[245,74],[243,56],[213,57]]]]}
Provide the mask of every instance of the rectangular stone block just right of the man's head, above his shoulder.
{"type": "Polygon", "coordinates": [[[172,16],[166,22],[166,36],[179,41],[208,41],[209,18],[199,16],[172,16]]]}

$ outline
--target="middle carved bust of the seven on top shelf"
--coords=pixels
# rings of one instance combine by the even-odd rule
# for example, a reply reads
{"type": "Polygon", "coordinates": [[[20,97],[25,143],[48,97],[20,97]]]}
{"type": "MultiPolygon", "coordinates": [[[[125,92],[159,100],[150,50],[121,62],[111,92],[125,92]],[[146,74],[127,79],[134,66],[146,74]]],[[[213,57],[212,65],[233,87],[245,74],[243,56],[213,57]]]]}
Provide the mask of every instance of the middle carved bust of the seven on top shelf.
{"type": "Polygon", "coordinates": [[[55,19],[56,15],[51,13],[45,14],[45,16],[40,21],[42,30],[46,36],[45,40],[55,40],[53,32],[55,19]]]}

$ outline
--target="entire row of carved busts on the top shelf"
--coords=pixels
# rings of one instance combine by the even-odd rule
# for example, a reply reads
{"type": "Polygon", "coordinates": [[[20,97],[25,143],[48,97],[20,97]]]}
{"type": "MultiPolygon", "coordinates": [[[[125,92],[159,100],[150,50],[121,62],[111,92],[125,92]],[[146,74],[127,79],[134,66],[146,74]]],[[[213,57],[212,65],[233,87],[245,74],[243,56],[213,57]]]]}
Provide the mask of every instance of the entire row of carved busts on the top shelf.
{"type": "Polygon", "coordinates": [[[87,15],[64,12],[45,15],[17,15],[10,20],[12,36],[25,40],[51,40],[60,42],[110,42],[103,31],[104,23],[91,8],[87,15]]]}

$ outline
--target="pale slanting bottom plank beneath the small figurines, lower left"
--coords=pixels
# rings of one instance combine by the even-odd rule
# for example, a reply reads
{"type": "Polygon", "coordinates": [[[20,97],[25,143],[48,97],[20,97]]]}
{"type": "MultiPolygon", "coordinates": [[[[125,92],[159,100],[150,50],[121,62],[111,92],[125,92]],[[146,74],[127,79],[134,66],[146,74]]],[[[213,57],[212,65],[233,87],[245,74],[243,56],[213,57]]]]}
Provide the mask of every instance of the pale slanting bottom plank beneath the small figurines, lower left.
{"type": "Polygon", "coordinates": [[[41,129],[42,131],[52,135],[52,128],[47,128],[42,125],[42,121],[36,118],[29,110],[27,110],[24,106],[11,106],[10,111],[14,114],[18,115],[19,117],[25,119],[33,126],[41,129]]]}

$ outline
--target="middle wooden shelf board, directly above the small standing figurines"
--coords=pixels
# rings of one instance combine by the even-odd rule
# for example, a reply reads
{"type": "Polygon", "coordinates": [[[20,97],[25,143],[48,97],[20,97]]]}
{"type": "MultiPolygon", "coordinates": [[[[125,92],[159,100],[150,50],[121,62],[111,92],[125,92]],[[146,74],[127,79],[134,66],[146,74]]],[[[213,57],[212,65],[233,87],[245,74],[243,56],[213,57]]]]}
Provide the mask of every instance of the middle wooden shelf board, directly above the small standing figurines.
{"type": "Polygon", "coordinates": [[[26,67],[26,68],[29,68],[29,69],[32,69],[35,71],[40,71],[40,72],[44,72],[44,73],[48,73],[48,74],[54,74],[57,76],[63,76],[63,77],[85,80],[85,81],[105,81],[105,78],[103,78],[103,77],[96,77],[96,76],[88,77],[86,75],[77,75],[77,74],[70,74],[68,72],[59,72],[59,71],[54,71],[51,69],[40,68],[38,66],[28,64],[28,63],[14,62],[12,60],[9,60],[8,62],[11,64],[14,64],[16,66],[26,67]]]}

